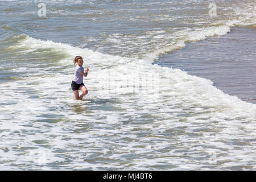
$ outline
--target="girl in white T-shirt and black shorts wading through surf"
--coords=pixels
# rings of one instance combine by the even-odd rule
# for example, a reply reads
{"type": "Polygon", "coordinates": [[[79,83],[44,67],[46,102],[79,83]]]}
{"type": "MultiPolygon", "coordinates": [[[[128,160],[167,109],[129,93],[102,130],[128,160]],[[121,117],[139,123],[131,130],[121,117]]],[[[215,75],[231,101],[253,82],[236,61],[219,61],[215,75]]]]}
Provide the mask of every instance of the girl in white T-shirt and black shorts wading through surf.
{"type": "Polygon", "coordinates": [[[74,92],[75,99],[82,100],[82,97],[84,97],[88,93],[88,90],[82,82],[82,79],[84,78],[84,76],[86,77],[88,75],[89,68],[86,68],[84,72],[84,68],[82,67],[84,60],[82,60],[81,56],[76,56],[73,62],[74,64],[77,63],[77,65],[75,68],[75,78],[72,80],[71,88],[74,92]],[[80,97],[79,90],[82,90],[82,94],[80,97]]]}

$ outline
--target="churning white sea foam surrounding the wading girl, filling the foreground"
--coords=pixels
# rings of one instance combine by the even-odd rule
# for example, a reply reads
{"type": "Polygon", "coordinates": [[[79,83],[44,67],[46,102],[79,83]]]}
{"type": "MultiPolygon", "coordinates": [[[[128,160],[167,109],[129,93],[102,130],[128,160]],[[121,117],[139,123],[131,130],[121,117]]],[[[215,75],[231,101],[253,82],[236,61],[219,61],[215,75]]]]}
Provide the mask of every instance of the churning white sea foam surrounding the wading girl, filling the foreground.
{"type": "MultiPolygon", "coordinates": [[[[212,32],[206,29],[204,35],[197,31],[187,40],[200,40],[229,30],[225,26],[222,31],[219,28],[209,28],[212,32]]],[[[5,131],[1,133],[0,151],[9,150],[1,152],[9,161],[1,166],[6,169],[18,169],[28,158],[35,169],[36,165],[52,169],[44,163],[68,164],[72,169],[150,169],[168,164],[170,156],[175,155],[183,158],[172,159],[173,166],[168,169],[205,168],[197,163],[197,157],[205,153],[205,162],[208,162],[211,151],[216,152],[218,162],[230,161],[220,164],[220,169],[232,166],[234,159],[240,160],[241,165],[248,163],[241,160],[241,156],[255,160],[250,146],[245,150],[237,147],[239,143],[230,146],[230,142],[239,136],[241,142],[249,140],[253,147],[256,105],[224,94],[210,80],[188,75],[180,69],[153,65],[148,60],[107,55],[29,36],[12,49],[15,47],[32,49],[35,55],[50,48],[50,52],[63,52],[67,57],[59,61],[65,68],[54,75],[47,75],[46,66],[37,76],[1,83],[1,94],[8,94],[0,102],[15,101],[1,108],[1,113],[5,113],[0,116],[1,128],[5,131]],[[72,59],[76,55],[83,56],[85,67],[90,68],[84,79],[89,90],[86,102],[73,100],[70,89],[72,59]],[[127,93],[121,88],[124,85],[143,88],[140,78],[152,77],[153,72],[159,76],[157,98],[150,90],[127,93]],[[133,81],[127,82],[127,75],[133,81]],[[29,85],[31,83],[37,84],[29,85]],[[109,90],[113,86],[116,86],[115,92],[109,90]],[[10,88],[13,92],[9,92],[10,88]],[[34,135],[38,132],[40,135],[34,135]],[[197,137],[188,137],[191,134],[197,137]],[[43,144],[35,144],[37,140],[43,144]],[[203,144],[197,147],[198,142],[203,144]],[[167,150],[168,146],[172,146],[172,150],[167,150]],[[9,164],[14,163],[15,156],[24,150],[26,154],[19,156],[16,167],[11,167],[9,164]],[[125,162],[131,153],[134,155],[125,162]],[[146,160],[139,159],[146,153],[150,154],[146,160]],[[67,162],[70,158],[71,163],[67,162]],[[90,158],[94,159],[93,165],[90,158]],[[193,164],[189,164],[191,160],[193,164]]]]}

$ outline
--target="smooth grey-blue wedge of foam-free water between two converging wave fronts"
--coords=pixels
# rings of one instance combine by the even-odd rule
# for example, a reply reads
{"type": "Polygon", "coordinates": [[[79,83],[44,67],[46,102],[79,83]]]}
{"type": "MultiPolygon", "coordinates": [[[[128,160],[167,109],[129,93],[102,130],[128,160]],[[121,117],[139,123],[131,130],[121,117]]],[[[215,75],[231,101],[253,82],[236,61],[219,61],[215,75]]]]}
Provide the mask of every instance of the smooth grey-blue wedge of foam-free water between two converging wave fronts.
{"type": "Polygon", "coordinates": [[[256,65],[253,60],[256,38],[251,36],[255,34],[255,28],[230,29],[223,36],[187,42],[182,49],[160,55],[153,64],[179,68],[189,75],[209,79],[224,93],[256,104],[256,65]]]}

